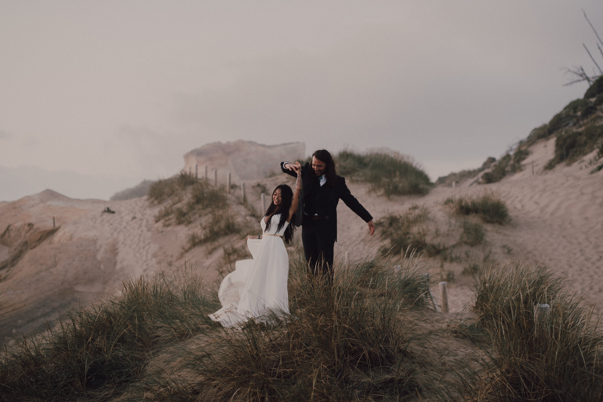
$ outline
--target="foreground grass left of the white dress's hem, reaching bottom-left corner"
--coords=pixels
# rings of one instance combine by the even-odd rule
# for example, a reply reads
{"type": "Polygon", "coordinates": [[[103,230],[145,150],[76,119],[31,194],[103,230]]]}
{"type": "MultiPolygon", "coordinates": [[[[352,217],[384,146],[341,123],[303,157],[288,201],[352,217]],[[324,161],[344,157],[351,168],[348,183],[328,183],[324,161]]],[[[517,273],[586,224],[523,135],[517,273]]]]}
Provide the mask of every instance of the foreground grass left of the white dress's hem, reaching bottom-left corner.
{"type": "Polygon", "coordinates": [[[121,295],[68,310],[57,327],[0,356],[0,400],[103,401],[139,380],[161,345],[217,325],[219,308],[190,270],[124,284],[121,295]]]}

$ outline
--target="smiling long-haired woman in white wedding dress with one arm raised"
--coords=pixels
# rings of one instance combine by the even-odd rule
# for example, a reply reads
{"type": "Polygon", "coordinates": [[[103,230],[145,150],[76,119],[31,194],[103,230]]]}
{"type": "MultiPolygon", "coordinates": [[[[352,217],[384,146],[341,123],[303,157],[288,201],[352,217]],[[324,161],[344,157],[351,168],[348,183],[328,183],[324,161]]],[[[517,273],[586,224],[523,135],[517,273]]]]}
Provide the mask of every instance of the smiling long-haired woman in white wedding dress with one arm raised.
{"type": "MultiPolygon", "coordinates": [[[[299,165],[299,163],[297,163],[299,165]]],[[[262,234],[247,236],[252,259],[235,263],[235,271],[224,277],[218,291],[222,308],[209,315],[227,328],[241,328],[254,318],[267,323],[269,315],[289,312],[287,279],[289,256],[285,243],[291,242],[294,218],[301,193],[301,169],[297,169],[295,193],[280,184],[272,193],[272,203],[260,221],[262,234]]]]}

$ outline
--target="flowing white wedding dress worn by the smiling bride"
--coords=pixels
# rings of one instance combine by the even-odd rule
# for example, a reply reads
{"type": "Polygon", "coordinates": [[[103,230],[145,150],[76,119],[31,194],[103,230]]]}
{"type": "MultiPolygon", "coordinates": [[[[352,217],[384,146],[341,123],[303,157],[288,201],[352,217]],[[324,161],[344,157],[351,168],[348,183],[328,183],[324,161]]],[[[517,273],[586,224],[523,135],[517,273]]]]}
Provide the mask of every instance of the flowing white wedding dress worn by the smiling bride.
{"type": "Polygon", "coordinates": [[[227,328],[241,328],[249,318],[267,322],[270,313],[289,312],[287,279],[289,256],[282,236],[289,222],[277,231],[280,213],[273,215],[270,229],[260,221],[262,239],[248,239],[252,259],[235,262],[235,271],[224,277],[218,291],[222,308],[209,318],[227,328]]]}

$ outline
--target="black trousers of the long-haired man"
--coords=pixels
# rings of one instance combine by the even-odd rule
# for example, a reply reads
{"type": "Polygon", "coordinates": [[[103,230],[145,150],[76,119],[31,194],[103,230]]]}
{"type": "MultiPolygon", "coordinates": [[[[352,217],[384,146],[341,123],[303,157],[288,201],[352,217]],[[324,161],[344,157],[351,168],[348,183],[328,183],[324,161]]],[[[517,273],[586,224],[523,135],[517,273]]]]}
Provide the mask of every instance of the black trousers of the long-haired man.
{"type": "Polygon", "coordinates": [[[332,281],[335,233],[329,220],[313,221],[309,216],[304,216],[301,225],[301,242],[311,269],[309,274],[315,277],[325,276],[328,281],[332,281]]]}

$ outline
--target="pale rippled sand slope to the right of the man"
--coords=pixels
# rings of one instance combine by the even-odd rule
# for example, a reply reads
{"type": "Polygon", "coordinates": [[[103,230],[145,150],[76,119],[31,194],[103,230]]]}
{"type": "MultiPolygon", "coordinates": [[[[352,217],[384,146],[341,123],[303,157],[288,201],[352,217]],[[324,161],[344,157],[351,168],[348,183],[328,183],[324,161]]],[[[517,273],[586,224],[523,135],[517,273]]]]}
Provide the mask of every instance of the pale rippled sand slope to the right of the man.
{"type": "MultiPolygon", "coordinates": [[[[493,190],[507,203],[511,223],[487,224],[486,244],[476,254],[491,252],[494,262],[526,259],[526,263],[544,263],[558,275],[567,277],[578,293],[586,292],[584,301],[596,304],[595,312],[603,312],[603,171],[589,174],[593,166],[587,162],[595,155],[587,155],[572,166],[561,164],[547,171],[546,162],[554,153],[555,139],[543,140],[530,149],[523,162],[525,169],[499,183],[473,184],[468,180],[452,187],[436,187],[424,197],[400,197],[387,200],[375,197],[359,184],[350,189],[376,218],[391,212],[404,212],[413,204],[426,206],[441,228],[450,224],[450,215],[443,207],[449,196],[478,195],[493,190]],[[532,175],[534,162],[534,175],[532,175]],[[364,191],[363,191],[364,190],[364,191]],[[504,247],[505,246],[505,247],[504,247]],[[510,253],[507,253],[508,250],[510,253]]],[[[365,226],[345,206],[339,206],[340,253],[346,248],[352,257],[374,252],[379,239],[370,239],[365,226]],[[376,242],[374,242],[376,240],[376,242]]],[[[453,221],[453,219],[452,219],[453,221]]],[[[432,278],[437,280],[441,262],[427,259],[432,264],[432,278]]],[[[450,310],[459,312],[470,301],[470,278],[460,275],[467,262],[446,263],[443,271],[455,271],[456,283],[449,284],[450,310]]],[[[435,285],[435,284],[434,284],[435,285]]],[[[438,292],[434,292],[438,296],[438,292]]]]}

